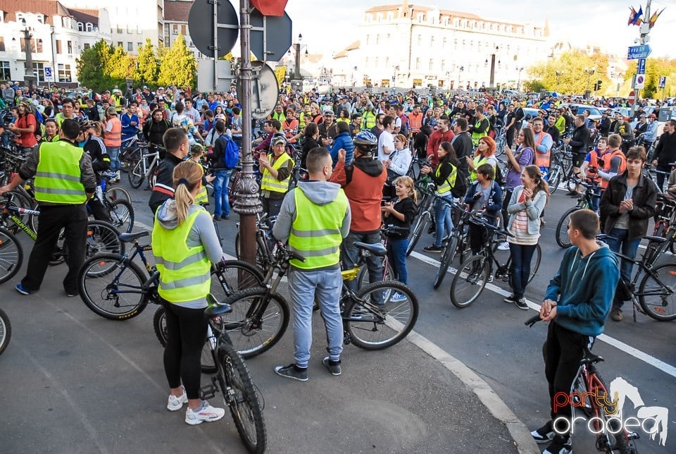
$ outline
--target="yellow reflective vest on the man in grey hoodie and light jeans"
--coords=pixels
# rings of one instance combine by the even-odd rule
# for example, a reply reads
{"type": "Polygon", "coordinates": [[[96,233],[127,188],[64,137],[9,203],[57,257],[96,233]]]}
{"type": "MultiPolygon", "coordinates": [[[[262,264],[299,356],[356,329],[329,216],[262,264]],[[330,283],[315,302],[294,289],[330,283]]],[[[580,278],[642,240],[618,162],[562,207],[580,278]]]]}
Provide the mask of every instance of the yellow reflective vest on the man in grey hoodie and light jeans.
{"type": "Polygon", "coordinates": [[[290,263],[299,269],[317,269],[340,262],[340,228],[348,207],[342,189],[333,202],[314,204],[299,188],[294,189],[296,219],[289,234],[289,247],[305,257],[305,262],[292,259],[290,263]]]}

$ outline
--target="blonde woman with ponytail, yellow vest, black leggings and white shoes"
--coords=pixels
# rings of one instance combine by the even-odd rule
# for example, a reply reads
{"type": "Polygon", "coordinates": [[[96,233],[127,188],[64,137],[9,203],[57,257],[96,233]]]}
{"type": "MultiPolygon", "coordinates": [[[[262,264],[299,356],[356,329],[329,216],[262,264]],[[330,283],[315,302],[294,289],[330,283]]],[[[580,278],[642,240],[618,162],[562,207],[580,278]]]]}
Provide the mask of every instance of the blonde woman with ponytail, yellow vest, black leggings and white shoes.
{"type": "Polygon", "coordinates": [[[164,370],[171,390],[167,409],[181,410],[187,403],[187,424],[212,422],[225,415],[222,408],[199,398],[211,263],[223,259],[211,215],[195,204],[201,180],[202,168],[194,161],[183,161],[174,168],[174,198],[157,210],[152,238],[160,272],[158,294],[167,321],[164,370]]]}

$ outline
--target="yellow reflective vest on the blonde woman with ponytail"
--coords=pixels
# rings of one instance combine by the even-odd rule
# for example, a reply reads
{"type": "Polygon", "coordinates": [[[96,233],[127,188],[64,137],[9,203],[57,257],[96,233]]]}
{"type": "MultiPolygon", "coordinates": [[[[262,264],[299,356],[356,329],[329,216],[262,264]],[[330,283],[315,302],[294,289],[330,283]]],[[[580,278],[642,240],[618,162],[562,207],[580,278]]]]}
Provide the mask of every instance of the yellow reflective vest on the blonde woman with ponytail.
{"type": "Polygon", "coordinates": [[[160,272],[158,293],[168,302],[204,300],[211,289],[211,263],[204,246],[186,244],[197,216],[208,216],[208,213],[199,207],[180,226],[168,230],[157,221],[156,214],[152,246],[160,272]]]}

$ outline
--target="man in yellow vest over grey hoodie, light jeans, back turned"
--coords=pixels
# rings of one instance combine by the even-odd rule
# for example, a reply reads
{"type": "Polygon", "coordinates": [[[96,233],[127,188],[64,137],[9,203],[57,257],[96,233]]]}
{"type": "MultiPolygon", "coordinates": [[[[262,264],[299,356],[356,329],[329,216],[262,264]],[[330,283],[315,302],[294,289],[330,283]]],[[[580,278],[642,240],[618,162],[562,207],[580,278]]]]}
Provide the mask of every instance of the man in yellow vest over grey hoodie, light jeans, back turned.
{"type": "Polygon", "coordinates": [[[291,250],[305,259],[292,259],[289,289],[294,304],[294,363],[277,366],[278,375],[308,381],[312,345],[312,308],[315,300],[322,311],[329,355],[323,363],[333,375],[340,375],[343,350],[343,323],[340,317],[340,244],[350,231],[351,212],[338,183],[330,183],[331,155],[325,148],[308,152],[309,181],[289,191],[273,235],[289,240],[291,250]]]}

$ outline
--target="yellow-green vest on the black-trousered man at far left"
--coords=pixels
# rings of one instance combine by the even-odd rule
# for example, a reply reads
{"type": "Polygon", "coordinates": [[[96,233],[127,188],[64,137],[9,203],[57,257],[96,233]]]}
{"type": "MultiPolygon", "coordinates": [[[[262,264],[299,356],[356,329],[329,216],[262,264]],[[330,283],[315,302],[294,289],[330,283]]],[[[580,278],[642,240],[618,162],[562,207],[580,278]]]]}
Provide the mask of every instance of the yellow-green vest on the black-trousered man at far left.
{"type": "Polygon", "coordinates": [[[80,172],[82,148],[65,140],[44,142],[35,173],[35,200],[76,205],[87,202],[80,172]]]}

